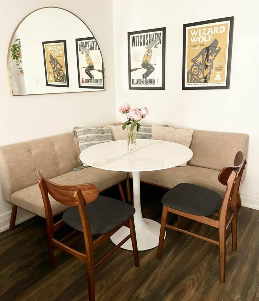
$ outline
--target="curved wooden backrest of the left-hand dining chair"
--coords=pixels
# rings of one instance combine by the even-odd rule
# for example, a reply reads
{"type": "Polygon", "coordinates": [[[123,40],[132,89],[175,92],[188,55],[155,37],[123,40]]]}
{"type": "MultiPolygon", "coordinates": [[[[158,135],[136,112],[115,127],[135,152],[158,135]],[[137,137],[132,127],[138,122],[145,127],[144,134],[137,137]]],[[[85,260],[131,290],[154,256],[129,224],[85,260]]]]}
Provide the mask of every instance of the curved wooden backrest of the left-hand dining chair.
{"type": "Polygon", "coordinates": [[[96,200],[99,195],[98,188],[93,184],[60,185],[46,179],[40,171],[38,171],[38,173],[40,176],[39,182],[44,182],[51,197],[63,205],[77,206],[74,195],[76,189],[81,191],[86,203],[91,203],[96,200]]]}

